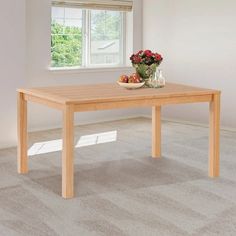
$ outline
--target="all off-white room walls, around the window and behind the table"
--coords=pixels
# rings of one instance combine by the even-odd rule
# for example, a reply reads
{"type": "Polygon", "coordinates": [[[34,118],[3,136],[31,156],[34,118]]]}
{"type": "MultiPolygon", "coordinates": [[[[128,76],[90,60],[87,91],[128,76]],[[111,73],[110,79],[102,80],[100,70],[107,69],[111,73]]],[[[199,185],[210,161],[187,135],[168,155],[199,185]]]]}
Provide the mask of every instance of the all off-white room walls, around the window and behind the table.
{"type": "MultiPolygon", "coordinates": [[[[143,6],[142,0],[136,0],[133,38],[134,51],[142,48],[143,35],[144,48],[163,53],[161,67],[168,81],[221,89],[222,125],[233,128],[236,128],[235,9],[234,0],[147,0],[143,6]]],[[[112,82],[124,72],[48,71],[50,0],[3,1],[0,27],[4,32],[0,39],[0,148],[16,145],[17,87],[112,82]]],[[[36,105],[29,110],[31,130],[60,127],[59,112],[36,105]]],[[[137,109],[84,113],[76,121],[86,123],[141,113],[137,109]]],[[[181,105],[165,108],[164,116],[207,122],[208,112],[206,105],[181,105]]]]}

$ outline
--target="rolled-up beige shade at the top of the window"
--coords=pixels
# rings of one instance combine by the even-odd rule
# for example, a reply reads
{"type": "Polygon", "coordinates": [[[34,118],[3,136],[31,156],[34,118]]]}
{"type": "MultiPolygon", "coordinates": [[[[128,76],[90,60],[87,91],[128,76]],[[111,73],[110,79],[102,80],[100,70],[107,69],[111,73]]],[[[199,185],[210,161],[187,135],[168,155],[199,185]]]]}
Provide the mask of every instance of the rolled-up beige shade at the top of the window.
{"type": "Polygon", "coordinates": [[[52,0],[52,5],[83,9],[132,11],[133,0],[52,0]]]}

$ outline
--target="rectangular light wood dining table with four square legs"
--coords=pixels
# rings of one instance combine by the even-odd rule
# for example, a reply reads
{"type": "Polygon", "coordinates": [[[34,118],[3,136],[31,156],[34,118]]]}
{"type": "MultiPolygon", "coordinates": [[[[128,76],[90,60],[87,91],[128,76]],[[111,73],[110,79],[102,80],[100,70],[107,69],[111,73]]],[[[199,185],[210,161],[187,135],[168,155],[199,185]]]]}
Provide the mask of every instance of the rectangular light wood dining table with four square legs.
{"type": "MultiPolygon", "coordinates": [[[[152,157],[161,157],[161,107],[170,104],[209,103],[209,176],[219,176],[220,91],[167,83],[164,88],[128,90],[116,83],[22,88],[18,94],[18,173],[28,172],[27,103],[62,111],[62,197],[74,197],[74,113],[152,107],[152,157]]],[[[135,145],[135,144],[134,144],[135,145]]],[[[102,175],[102,173],[101,173],[102,175]]]]}

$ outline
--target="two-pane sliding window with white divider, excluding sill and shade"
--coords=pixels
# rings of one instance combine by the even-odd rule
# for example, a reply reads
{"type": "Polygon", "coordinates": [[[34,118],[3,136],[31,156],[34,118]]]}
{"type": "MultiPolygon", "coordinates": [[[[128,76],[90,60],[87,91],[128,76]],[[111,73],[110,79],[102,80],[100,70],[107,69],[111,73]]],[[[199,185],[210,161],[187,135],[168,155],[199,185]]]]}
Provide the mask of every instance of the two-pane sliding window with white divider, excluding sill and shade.
{"type": "Polygon", "coordinates": [[[51,66],[124,65],[125,13],[52,7],[51,66]]]}

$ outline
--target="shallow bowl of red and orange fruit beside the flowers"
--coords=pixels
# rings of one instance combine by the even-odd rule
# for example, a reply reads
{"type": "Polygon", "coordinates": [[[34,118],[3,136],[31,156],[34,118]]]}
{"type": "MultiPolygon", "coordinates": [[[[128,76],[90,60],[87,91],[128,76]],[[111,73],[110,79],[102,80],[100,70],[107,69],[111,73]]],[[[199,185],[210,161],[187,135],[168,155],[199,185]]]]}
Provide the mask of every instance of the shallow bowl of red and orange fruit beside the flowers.
{"type": "Polygon", "coordinates": [[[133,73],[130,76],[121,75],[117,83],[127,89],[141,88],[144,85],[144,82],[142,82],[142,79],[137,73],[133,73]]]}

